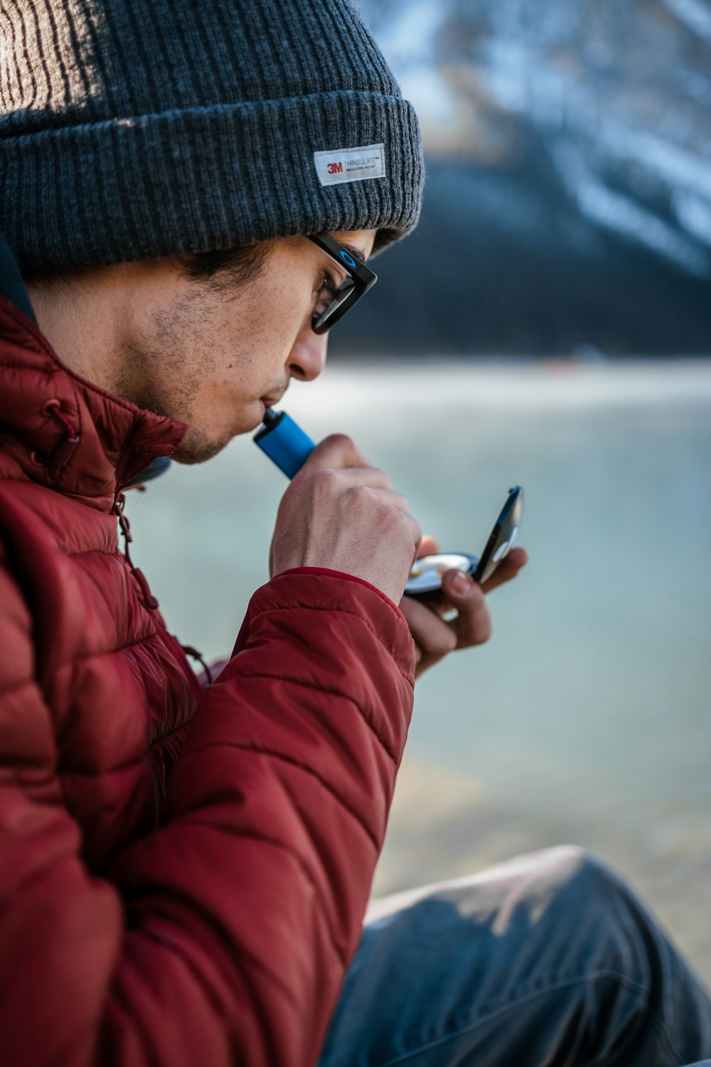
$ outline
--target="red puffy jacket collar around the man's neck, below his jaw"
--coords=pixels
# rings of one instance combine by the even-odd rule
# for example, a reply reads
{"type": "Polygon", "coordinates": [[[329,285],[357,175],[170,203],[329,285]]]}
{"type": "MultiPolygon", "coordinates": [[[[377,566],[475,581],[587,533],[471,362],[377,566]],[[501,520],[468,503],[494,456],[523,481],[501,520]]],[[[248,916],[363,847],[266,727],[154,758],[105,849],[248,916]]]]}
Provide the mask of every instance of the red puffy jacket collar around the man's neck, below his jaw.
{"type": "Polygon", "coordinates": [[[110,511],[187,429],[75,375],[29,316],[0,296],[0,476],[17,477],[19,467],[32,481],[110,511]]]}

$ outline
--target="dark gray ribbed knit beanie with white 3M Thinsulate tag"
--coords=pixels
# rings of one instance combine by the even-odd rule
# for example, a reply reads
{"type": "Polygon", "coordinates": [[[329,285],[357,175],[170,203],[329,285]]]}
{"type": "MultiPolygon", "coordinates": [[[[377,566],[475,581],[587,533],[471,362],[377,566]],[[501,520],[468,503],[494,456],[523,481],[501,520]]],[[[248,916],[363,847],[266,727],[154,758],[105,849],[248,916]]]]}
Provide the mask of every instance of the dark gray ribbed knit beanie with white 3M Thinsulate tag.
{"type": "Polygon", "coordinates": [[[62,270],[418,219],[417,117],[349,0],[2,0],[0,232],[62,270]]]}

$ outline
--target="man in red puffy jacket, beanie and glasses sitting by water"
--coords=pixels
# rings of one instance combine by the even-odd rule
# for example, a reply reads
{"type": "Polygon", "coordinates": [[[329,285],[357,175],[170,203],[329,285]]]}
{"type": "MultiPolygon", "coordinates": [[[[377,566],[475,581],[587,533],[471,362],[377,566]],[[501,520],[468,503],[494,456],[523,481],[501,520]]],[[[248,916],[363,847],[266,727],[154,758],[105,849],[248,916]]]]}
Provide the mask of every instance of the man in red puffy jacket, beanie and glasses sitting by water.
{"type": "Polygon", "coordinates": [[[361,939],[416,660],[488,614],[454,573],[454,624],[403,600],[432,544],[355,444],[287,489],[206,691],[132,564],[126,490],[316,378],[346,268],[417,221],[417,122],[354,11],[2,14],[1,1062],[708,1054],[705,991],[575,849],[384,902],[361,939]]]}

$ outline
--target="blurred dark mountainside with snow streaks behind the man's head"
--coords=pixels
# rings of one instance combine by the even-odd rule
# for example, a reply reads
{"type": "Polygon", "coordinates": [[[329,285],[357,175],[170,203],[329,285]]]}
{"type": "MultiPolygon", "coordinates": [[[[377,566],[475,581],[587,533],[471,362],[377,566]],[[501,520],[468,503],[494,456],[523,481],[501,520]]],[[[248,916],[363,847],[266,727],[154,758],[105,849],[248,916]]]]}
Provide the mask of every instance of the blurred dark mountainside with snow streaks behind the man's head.
{"type": "Polygon", "coordinates": [[[359,6],[429,176],[336,350],[711,351],[711,0],[359,6]]]}

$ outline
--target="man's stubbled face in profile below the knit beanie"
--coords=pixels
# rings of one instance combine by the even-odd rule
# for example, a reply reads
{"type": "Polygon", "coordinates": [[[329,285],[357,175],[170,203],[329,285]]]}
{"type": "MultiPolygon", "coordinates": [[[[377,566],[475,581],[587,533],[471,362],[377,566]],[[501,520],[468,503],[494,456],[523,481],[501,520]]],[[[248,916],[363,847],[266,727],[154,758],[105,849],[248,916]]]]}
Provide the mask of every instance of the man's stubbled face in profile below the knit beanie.
{"type": "MultiPolygon", "coordinates": [[[[334,236],[366,259],[375,234],[334,236]]],[[[342,275],[306,237],[275,241],[261,270],[239,285],[224,274],[190,278],[175,260],[130,266],[116,392],[188,425],[179,462],[210,459],[259,426],[291,378],[312,381],[323,370],[327,335],[313,333],[311,318],[324,281],[338,285],[342,275]]]]}

